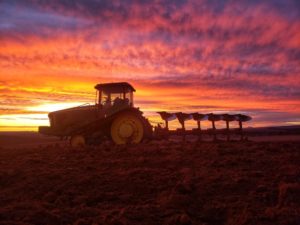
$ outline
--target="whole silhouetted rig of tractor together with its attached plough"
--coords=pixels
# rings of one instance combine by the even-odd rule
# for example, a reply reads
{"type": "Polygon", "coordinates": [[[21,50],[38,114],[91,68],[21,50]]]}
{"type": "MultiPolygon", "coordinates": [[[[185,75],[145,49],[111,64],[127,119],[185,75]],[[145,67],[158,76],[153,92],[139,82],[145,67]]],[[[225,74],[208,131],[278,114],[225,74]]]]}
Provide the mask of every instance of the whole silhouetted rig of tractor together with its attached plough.
{"type": "MultiPolygon", "coordinates": [[[[199,114],[199,113],[169,113],[158,112],[165,121],[165,127],[159,124],[151,126],[143,112],[134,107],[133,92],[135,89],[126,82],[97,84],[97,102],[95,105],[82,105],[49,113],[50,126],[39,127],[39,132],[62,138],[70,138],[72,146],[85,143],[99,142],[109,138],[116,144],[140,143],[144,139],[161,138],[169,135],[199,135],[213,134],[216,139],[217,129],[215,122],[226,121],[226,133],[229,135],[229,122],[239,122],[239,132],[242,131],[242,122],[251,120],[251,117],[237,114],[199,114]],[[178,119],[181,128],[169,130],[168,122],[178,119]],[[197,128],[186,130],[185,121],[193,119],[197,128]],[[200,121],[212,122],[212,129],[202,130],[200,121]]],[[[229,136],[228,136],[229,139],[229,136]]]]}

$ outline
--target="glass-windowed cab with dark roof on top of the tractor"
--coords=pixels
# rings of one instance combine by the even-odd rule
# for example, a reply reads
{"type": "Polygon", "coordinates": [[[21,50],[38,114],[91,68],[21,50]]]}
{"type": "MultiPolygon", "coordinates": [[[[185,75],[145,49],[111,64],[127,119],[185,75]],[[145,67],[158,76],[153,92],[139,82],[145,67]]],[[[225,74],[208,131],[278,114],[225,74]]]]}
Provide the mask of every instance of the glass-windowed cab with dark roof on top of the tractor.
{"type": "Polygon", "coordinates": [[[133,107],[135,89],[127,82],[97,84],[96,105],[107,114],[133,107]]]}

